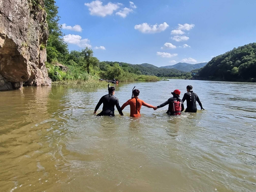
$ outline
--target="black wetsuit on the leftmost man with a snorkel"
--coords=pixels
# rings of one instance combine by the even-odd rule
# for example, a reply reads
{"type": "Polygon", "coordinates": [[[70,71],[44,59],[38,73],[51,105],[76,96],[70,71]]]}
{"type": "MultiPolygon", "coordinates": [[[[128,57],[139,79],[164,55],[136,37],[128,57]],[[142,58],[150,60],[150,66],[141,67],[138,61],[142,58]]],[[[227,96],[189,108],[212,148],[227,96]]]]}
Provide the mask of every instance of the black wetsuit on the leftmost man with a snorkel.
{"type": "Polygon", "coordinates": [[[111,93],[104,95],[100,101],[98,102],[98,104],[95,107],[94,111],[97,111],[100,107],[100,105],[103,103],[103,108],[102,108],[102,112],[100,112],[97,116],[115,116],[115,106],[116,109],[118,110],[118,112],[120,114],[122,113],[121,107],[119,105],[119,101],[118,98],[114,97],[114,95],[112,95],[111,93]]]}

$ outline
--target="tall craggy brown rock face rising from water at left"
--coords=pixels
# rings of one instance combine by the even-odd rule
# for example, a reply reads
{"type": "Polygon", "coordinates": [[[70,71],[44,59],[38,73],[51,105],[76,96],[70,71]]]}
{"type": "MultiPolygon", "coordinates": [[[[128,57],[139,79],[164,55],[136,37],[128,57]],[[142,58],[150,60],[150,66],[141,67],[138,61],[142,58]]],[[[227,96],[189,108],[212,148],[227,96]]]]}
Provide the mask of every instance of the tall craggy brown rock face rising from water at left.
{"type": "Polygon", "coordinates": [[[42,6],[43,0],[0,0],[0,91],[20,88],[24,82],[51,84],[45,67],[49,32],[42,6]]]}

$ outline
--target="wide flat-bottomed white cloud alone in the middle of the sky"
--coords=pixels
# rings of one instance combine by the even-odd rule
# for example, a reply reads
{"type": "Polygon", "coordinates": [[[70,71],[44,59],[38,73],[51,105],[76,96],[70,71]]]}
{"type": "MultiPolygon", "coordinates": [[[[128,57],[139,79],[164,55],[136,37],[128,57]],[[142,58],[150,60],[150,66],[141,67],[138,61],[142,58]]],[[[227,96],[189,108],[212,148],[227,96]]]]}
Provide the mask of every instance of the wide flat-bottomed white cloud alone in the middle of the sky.
{"type": "Polygon", "coordinates": [[[160,33],[161,31],[167,29],[167,27],[169,27],[169,25],[166,22],[160,25],[148,25],[147,23],[143,23],[140,25],[135,25],[134,29],[141,31],[141,33],[160,33]]]}

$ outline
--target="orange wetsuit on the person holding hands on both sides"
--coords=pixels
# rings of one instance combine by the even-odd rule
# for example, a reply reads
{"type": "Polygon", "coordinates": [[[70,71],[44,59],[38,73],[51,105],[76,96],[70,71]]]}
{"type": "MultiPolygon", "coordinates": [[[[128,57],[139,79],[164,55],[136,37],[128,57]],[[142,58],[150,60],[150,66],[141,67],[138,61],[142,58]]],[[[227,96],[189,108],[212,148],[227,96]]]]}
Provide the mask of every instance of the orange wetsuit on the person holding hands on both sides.
{"type": "Polygon", "coordinates": [[[146,106],[148,108],[154,108],[153,105],[147,104],[143,100],[141,100],[137,97],[134,97],[134,98],[129,99],[128,101],[126,101],[122,105],[121,109],[123,110],[127,105],[130,105],[130,109],[131,109],[130,117],[139,117],[139,116],[141,116],[140,110],[141,110],[142,105],[146,106]]]}

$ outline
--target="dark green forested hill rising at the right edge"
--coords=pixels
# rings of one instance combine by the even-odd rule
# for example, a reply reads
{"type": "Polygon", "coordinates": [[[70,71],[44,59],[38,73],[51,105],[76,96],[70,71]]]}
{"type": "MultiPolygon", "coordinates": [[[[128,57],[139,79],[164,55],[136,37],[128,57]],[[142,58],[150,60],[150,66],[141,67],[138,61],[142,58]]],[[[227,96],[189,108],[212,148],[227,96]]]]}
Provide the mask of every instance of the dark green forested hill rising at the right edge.
{"type": "Polygon", "coordinates": [[[199,79],[205,80],[256,82],[256,43],[212,58],[198,75],[199,79]]]}

